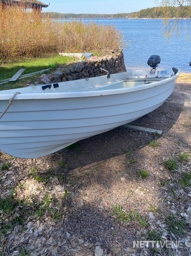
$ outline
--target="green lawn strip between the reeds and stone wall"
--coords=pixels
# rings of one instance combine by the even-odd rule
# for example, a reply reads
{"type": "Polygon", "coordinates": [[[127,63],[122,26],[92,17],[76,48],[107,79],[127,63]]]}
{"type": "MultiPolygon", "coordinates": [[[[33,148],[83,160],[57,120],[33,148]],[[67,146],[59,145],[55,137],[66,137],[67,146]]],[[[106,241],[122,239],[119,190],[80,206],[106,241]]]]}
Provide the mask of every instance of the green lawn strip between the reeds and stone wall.
{"type": "Polygon", "coordinates": [[[0,66],[0,80],[11,78],[20,69],[26,69],[22,75],[42,71],[46,69],[55,69],[59,65],[66,65],[77,61],[75,57],[60,56],[53,54],[45,58],[22,59],[20,61],[8,62],[0,66]]]}

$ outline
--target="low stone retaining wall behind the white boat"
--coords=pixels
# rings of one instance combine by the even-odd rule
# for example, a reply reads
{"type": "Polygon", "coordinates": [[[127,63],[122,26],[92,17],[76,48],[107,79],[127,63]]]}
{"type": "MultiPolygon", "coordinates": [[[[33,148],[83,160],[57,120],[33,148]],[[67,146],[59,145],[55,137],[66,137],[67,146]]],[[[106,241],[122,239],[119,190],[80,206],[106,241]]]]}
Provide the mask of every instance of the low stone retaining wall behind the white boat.
{"type": "Polygon", "coordinates": [[[65,82],[76,79],[95,77],[107,74],[125,72],[123,52],[113,52],[105,57],[90,58],[75,64],[58,68],[50,74],[43,74],[40,78],[45,84],[65,82]]]}

